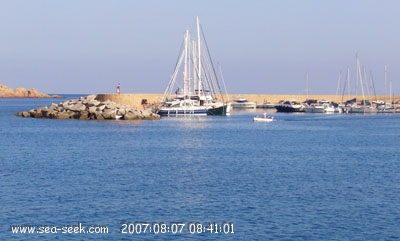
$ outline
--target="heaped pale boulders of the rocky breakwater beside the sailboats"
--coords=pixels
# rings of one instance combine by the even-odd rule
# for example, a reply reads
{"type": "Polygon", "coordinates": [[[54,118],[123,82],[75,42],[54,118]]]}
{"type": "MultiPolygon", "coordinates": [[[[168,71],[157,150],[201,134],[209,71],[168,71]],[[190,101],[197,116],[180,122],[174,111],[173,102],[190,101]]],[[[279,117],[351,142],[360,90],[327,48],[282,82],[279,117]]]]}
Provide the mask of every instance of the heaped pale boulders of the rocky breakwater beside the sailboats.
{"type": "Polygon", "coordinates": [[[129,105],[112,101],[99,101],[96,95],[67,100],[59,104],[52,103],[30,111],[17,113],[21,117],[81,120],[158,120],[160,116],[151,111],[136,110],[129,105]]]}

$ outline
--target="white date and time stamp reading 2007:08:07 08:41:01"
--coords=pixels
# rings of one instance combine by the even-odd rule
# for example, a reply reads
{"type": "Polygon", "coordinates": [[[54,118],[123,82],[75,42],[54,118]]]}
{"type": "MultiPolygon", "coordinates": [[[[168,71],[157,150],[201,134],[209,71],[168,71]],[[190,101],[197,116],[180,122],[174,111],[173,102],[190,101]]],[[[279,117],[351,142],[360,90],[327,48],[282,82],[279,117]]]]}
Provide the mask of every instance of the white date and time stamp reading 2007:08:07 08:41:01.
{"type": "Polygon", "coordinates": [[[187,226],[187,231],[191,234],[196,233],[235,233],[233,230],[232,222],[223,222],[221,224],[216,222],[208,222],[207,224],[202,224],[200,222],[188,222],[187,224],[183,222],[121,222],[121,233],[124,234],[144,234],[144,233],[154,233],[154,234],[164,234],[172,233],[179,234],[185,230],[187,226]]]}

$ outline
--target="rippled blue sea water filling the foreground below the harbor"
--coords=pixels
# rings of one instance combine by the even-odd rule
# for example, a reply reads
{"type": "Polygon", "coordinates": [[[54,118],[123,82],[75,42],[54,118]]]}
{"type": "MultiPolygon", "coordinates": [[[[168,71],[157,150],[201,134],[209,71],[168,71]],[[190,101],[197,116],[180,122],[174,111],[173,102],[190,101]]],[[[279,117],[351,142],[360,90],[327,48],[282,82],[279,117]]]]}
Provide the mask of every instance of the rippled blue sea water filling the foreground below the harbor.
{"type": "Polygon", "coordinates": [[[54,120],[0,99],[0,240],[399,240],[400,114],[54,120]]]}

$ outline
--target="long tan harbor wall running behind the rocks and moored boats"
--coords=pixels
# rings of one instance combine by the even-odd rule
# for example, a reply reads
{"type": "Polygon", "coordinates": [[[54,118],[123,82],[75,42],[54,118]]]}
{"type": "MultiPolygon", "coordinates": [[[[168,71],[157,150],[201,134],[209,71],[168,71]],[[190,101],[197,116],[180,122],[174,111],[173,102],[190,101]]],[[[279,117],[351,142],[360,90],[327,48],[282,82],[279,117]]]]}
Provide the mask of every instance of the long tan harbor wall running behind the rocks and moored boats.
{"type": "MultiPolygon", "coordinates": [[[[140,94],[140,93],[127,93],[127,94],[98,94],[96,99],[99,101],[110,100],[119,104],[127,104],[132,107],[142,108],[142,99],[147,99],[149,105],[158,104],[161,102],[163,94],[140,94]]],[[[283,100],[296,99],[300,102],[307,99],[315,100],[329,100],[334,102],[341,102],[350,100],[352,98],[357,98],[357,102],[362,100],[362,96],[337,96],[337,95],[288,95],[288,94],[232,94],[224,95],[224,101],[230,102],[236,98],[244,98],[248,101],[254,101],[257,104],[263,103],[279,103],[283,100]]],[[[389,96],[366,96],[368,100],[383,100],[389,101],[389,96]]],[[[400,96],[392,97],[392,100],[400,101],[400,96]]]]}

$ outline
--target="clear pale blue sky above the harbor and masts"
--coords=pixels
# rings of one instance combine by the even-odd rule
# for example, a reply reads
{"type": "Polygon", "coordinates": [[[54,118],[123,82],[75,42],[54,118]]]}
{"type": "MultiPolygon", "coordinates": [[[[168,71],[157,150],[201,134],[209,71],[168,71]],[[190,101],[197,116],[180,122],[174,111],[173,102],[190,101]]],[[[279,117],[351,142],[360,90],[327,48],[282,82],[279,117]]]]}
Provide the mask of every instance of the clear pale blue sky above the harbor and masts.
{"type": "Polygon", "coordinates": [[[199,16],[230,94],[341,94],[348,67],[355,91],[358,54],[376,94],[392,83],[400,95],[399,9],[398,0],[1,0],[0,83],[163,93],[199,16]]]}

